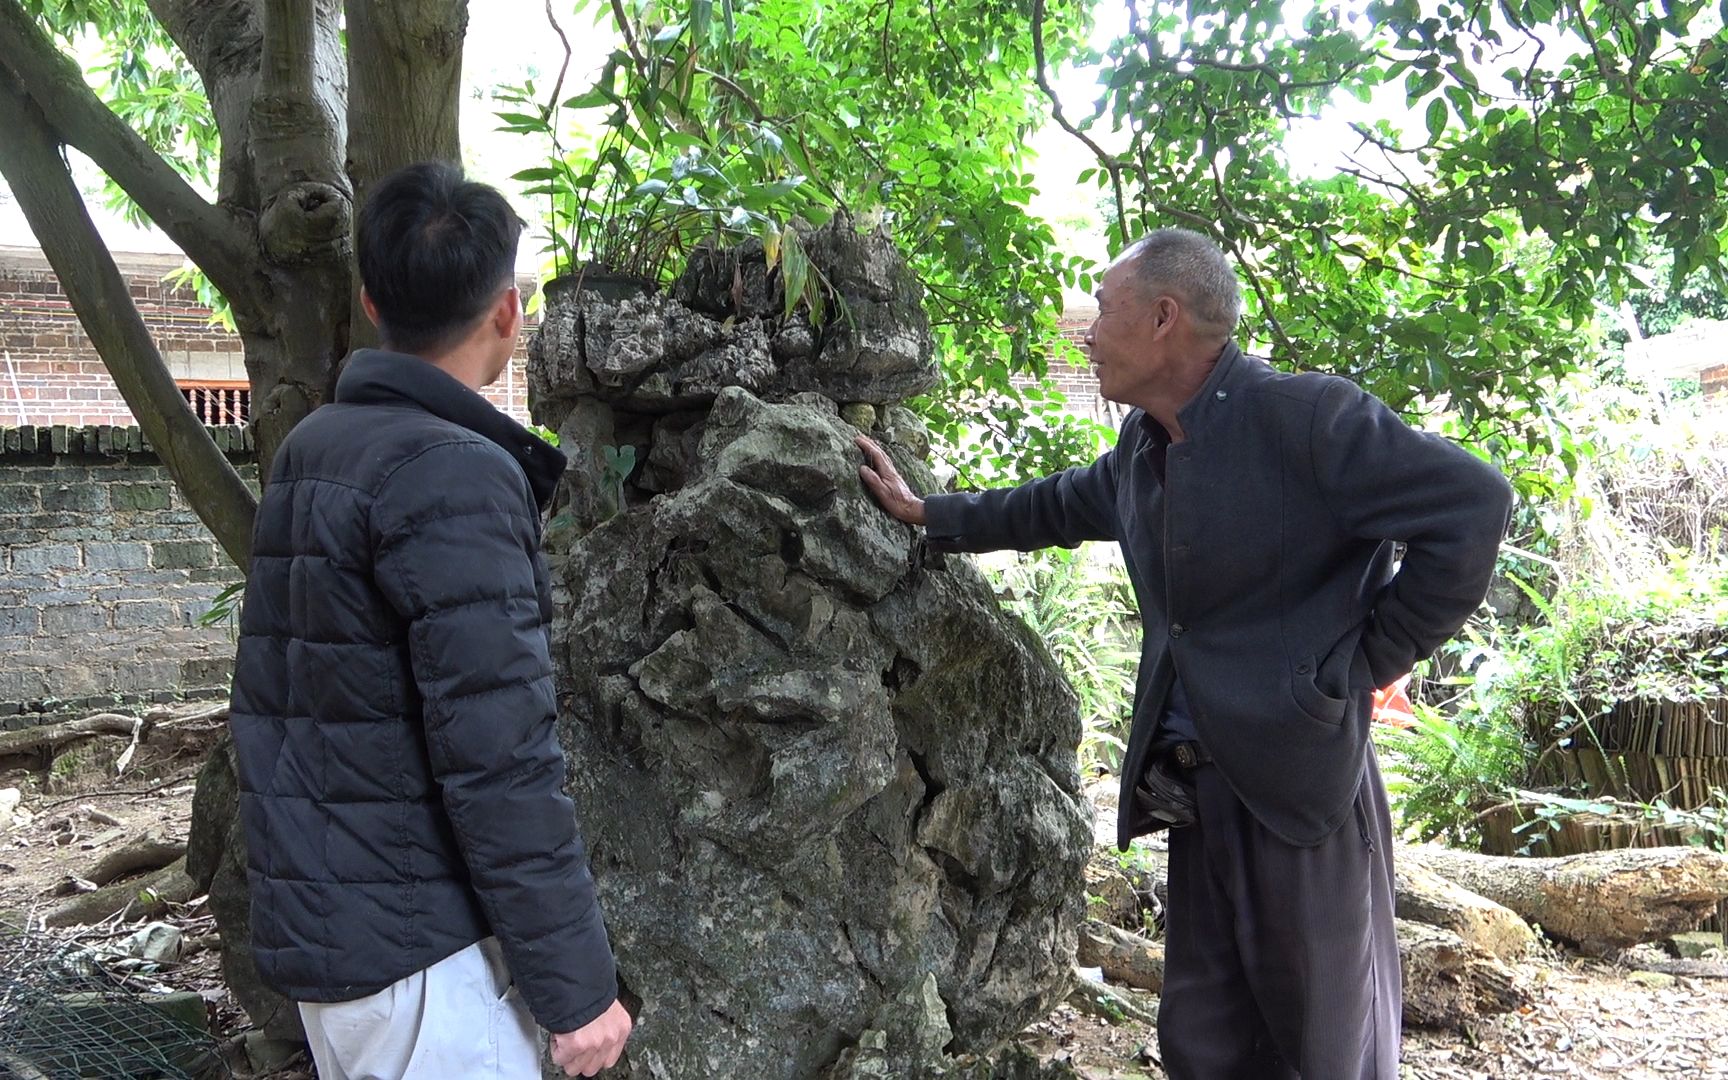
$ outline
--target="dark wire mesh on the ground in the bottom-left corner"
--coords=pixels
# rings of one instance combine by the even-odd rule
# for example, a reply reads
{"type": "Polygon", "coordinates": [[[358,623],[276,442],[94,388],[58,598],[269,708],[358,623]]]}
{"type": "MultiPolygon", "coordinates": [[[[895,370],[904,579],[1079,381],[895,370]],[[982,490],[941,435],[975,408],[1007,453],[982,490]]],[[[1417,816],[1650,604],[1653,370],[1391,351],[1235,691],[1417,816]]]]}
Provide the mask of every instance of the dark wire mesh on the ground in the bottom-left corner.
{"type": "Polygon", "coordinates": [[[0,1080],[226,1080],[216,1039],[176,1004],[90,949],[0,924],[0,1080]]]}

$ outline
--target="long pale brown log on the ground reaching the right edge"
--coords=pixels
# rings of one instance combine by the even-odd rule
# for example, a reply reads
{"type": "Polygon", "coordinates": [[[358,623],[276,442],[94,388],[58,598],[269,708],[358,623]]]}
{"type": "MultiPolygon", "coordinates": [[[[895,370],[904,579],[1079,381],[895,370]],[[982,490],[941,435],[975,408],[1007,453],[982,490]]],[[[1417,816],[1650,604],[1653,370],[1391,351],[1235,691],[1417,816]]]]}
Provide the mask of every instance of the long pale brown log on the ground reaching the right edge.
{"type": "Polygon", "coordinates": [[[1400,848],[1398,859],[1510,907],[1586,952],[1695,930],[1728,897],[1728,855],[1695,847],[1628,848],[1560,859],[1400,848]]]}

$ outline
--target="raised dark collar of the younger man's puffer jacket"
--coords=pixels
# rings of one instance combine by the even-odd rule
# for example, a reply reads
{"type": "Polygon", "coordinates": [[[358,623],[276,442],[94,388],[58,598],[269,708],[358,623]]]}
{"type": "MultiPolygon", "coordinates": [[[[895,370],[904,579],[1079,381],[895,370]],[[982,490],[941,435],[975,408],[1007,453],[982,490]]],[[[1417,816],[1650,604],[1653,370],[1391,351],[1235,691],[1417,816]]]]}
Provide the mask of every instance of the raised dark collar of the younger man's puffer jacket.
{"type": "Polygon", "coordinates": [[[491,439],[522,467],[541,510],[551,503],[553,489],[563,475],[565,456],[555,446],[498,411],[454,375],[418,356],[356,349],[337,378],[335,399],[344,404],[420,408],[491,439]]]}

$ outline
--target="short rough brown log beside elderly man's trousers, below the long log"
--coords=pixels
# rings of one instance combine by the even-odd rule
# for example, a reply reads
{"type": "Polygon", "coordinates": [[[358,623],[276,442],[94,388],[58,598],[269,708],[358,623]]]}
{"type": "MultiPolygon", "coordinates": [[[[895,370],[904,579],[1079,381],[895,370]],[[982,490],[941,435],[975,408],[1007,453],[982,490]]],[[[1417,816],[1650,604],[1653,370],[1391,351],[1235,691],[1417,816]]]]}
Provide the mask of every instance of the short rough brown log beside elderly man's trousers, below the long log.
{"type": "Polygon", "coordinates": [[[1522,978],[1450,930],[1398,919],[1403,1020],[1419,1028],[1457,1028],[1529,1004],[1522,978]]]}

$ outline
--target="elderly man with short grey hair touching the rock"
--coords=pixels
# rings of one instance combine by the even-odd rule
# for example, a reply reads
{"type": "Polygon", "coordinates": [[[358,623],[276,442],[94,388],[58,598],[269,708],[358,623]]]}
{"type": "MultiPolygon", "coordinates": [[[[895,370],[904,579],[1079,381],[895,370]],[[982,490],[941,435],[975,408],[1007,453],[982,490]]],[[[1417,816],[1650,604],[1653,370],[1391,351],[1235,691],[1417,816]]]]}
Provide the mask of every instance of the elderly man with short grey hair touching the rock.
{"type": "Polygon", "coordinates": [[[1236,273],[1198,233],[1132,245],[1097,299],[1099,389],[1132,406],[1113,451],[919,499],[861,439],[862,479],[938,548],[1121,546],[1144,645],[1118,843],[1172,829],[1170,1077],[1393,1080],[1393,833],[1370,698],[1481,603],[1510,489],[1356,385],[1244,356],[1236,273]]]}

